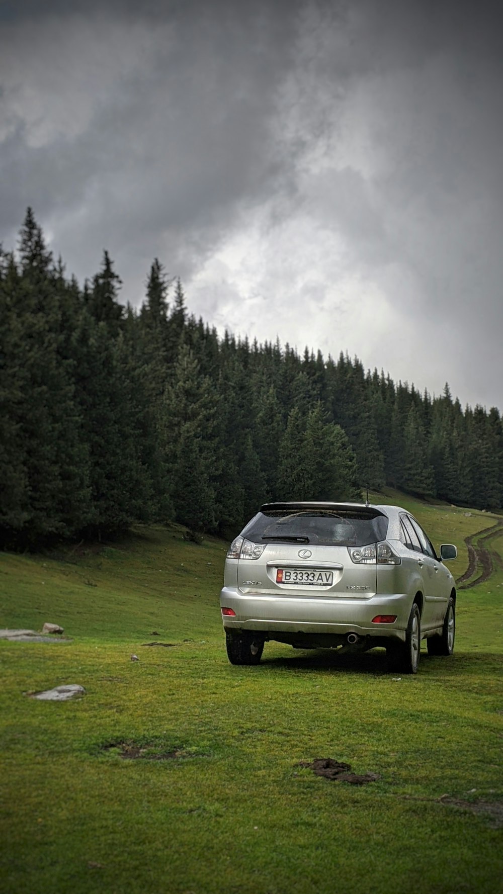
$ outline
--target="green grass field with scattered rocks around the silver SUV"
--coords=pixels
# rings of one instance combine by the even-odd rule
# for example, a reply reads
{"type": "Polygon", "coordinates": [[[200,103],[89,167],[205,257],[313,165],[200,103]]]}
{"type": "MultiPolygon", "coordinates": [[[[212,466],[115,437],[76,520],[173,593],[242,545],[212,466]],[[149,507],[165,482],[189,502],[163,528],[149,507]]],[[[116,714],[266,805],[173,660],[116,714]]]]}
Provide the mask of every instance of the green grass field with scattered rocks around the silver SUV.
{"type": "MultiPolygon", "coordinates": [[[[455,577],[465,537],[497,521],[390,491],[373,499],[406,504],[435,545],[456,543],[455,577]]],[[[182,533],[0,553],[0,627],[54,621],[72,637],[0,642],[0,890],[501,892],[503,533],[490,539],[490,578],[458,593],[453,658],[423,643],[419,674],[402,679],[381,649],[267,644],[259,667],[231,666],[226,544],[182,533]],[[26,695],[62,683],[87,694],[26,695]],[[316,757],[379,780],[356,787],[299,766],[316,757]]]]}

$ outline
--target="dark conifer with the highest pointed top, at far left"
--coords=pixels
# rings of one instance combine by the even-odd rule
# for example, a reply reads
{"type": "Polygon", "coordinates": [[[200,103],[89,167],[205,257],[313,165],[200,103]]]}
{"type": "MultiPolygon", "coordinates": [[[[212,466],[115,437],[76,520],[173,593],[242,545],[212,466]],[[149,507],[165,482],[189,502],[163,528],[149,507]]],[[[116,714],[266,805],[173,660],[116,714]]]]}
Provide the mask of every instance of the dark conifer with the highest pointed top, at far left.
{"type": "Polygon", "coordinates": [[[2,283],[10,329],[4,381],[12,389],[5,425],[13,438],[9,449],[18,454],[6,480],[11,534],[33,544],[78,530],[87,511],[88,468],[69,356],[68,290],[30,208],[19,254],[19,269],[11,257],[2,283]]]}

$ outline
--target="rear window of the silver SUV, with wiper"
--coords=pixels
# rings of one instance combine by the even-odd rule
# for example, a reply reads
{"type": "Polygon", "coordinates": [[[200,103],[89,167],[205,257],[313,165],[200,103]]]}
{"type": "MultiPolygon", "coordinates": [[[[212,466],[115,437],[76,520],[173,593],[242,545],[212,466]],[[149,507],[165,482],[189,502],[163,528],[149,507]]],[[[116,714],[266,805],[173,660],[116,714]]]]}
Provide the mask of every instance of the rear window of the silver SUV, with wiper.
{"type": "Polygon", "coordinates": [[[365,546],[385,540],[388,519],[363,510],[268,510],[259,512],[243,530],[254,544],[298,543],[322,546],[365,546]]]}

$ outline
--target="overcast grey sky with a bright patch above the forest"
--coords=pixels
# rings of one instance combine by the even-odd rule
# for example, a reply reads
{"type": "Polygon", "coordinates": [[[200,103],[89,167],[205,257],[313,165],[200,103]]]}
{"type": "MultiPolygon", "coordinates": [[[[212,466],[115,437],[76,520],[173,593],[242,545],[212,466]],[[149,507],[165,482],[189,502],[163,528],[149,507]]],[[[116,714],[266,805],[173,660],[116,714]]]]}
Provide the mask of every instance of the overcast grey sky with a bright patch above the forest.
{"type": "Polygon", "coordinates": [[[503,409],[502,69],[489,0],[0,0],[0,241],[503,409]]]}

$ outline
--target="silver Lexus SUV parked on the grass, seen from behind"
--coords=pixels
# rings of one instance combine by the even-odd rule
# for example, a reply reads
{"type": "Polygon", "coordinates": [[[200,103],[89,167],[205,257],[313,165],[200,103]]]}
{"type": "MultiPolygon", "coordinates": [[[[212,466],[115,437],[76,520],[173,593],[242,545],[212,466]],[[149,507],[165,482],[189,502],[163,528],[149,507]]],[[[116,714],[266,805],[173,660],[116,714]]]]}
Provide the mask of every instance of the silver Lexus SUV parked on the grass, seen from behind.
{"type": "Polygon", "coordinates": [[[421,525],[399,506],[266,503],[226,556],[220,594],[233,664],[258,664],[270,639],[312,649],[384,646],[393,670],[417,673],[454,651],[456,589],[421,525]]]}

